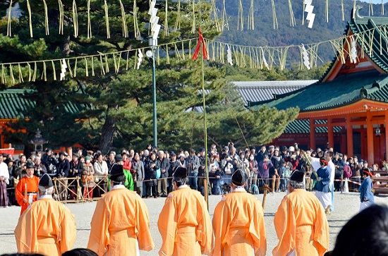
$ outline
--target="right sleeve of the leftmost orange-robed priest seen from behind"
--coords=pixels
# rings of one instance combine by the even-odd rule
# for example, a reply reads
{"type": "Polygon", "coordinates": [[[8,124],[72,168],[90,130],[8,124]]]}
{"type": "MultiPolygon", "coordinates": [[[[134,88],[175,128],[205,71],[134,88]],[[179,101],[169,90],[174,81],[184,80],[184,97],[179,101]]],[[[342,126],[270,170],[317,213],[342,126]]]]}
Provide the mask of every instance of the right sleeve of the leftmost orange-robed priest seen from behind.
{"type": "Polygon", "coordinates": [[[61,253],[67,252],[73,248],[77,228],[75,226],[74,215],[70,209],[63,206],[63,218],[61,221],[61,253]]]}

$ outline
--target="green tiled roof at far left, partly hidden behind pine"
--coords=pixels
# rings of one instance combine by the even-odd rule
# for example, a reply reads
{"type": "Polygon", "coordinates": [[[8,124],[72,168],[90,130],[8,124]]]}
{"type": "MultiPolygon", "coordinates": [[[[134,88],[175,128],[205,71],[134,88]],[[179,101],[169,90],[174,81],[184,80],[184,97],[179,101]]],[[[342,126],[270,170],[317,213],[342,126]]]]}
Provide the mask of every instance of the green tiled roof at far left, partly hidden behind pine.
{"type": "MultiPolygon", "coordinates": [[[[23,112],[27,107],[35,106],[35,102],[23,97],[28,92],[31,90],[8,89],[0,91],[0,119],[28,118],[28,116],[23,115],[23,112]]],[[[69,114],[75,114],[85,109],[85,106],[67,102],[64,108],[69,114]]]]}

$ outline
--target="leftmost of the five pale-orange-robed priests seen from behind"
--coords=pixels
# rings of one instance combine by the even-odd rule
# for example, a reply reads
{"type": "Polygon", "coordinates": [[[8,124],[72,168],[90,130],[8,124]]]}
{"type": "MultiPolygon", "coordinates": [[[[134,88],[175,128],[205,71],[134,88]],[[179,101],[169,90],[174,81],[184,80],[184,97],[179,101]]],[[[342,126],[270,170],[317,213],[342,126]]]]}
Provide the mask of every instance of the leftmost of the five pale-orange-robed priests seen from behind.
{"type": "Polygon", "coordinates": [[[39,182],[39,199],[20,216],[15,228],[18,252],[56,256],[75,243],[75,219],[70,209],[52,198],[54,185],[44,173],[39,182]]]}

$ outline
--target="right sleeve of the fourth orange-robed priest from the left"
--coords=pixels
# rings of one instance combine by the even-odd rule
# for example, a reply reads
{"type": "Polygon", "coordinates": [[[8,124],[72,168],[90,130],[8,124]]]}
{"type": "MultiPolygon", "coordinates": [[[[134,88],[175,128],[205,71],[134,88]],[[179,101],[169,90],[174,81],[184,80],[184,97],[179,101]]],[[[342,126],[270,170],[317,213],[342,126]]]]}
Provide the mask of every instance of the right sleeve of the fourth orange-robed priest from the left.
{"type": "Polygon", "coordinates": [[[265,235],[264,210],[259,200],[255,200],[251,216],[253,221],[250,221],[249,232],[253,238],[255,256],[265,256],[267,254],[267,236],[265,235]]]}

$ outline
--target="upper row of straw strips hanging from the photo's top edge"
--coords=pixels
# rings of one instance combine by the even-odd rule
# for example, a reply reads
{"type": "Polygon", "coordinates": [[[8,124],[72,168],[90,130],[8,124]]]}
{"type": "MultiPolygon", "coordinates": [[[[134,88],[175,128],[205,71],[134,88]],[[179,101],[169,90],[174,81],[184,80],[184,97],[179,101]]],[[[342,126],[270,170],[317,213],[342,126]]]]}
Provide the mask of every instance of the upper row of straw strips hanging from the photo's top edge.
{"type": "MultiPolygon", "coordinates": [[[[47,6],[47,0],[37,0],[37,1],[42,1],[43,4],[43,9],[44,9],[44,28],[46,35],[49,35],[49,16],[48,13],[51,11],[48,9],[47,6]]],[[[138,6],[137,6],[137,1],[133,0],[133,10],[129,11],[125,9],[125,5],[123,4],[123,0],[116,0],[118,1],[118,4],[120,5],[121,8],[121,27],[122,27],[122,35],[123,37],[128,37],[128,24],[127,24],[127,13],[131,13],[133,15],[133,30],[134,30],[134,36],[136,39],[140,38],[140,28],[139,28],[139,16],[138,16],[138,6]]],[[[200,8],[198,9],[197,4],[200,4],[201,2],[207,2],[208,4],[211,5],[211,14],[212,14],[212,22],[214,22],[214,26],[217,29],[217,32],[221,32],[224,30],[229,30],[229,17],[226,13],[226,0],[222,0],[222,10],[220,11],[217,8],[217,1],[221,0],[186,0],[185,4],[187,4],[187,7],[189,9],[190,13],[190,22],[191,22],[191,32],[193,34],[196,33],[197,31],[197,22],[198,22],[198,16],[200,16],[200,8]],[[198,14],[199,13],[199,14],[198,14]]],[[[6,35],[11,37],[11,10],[12,5],[13,5],[13,0],[9,0],[9,7],[7,10],[7,32],[6,35]]],[[[164,2],[164,20],[163,20],[163,25],[164,25],[164,35],[169,36],[170,28],[169,28],[169,19],[171,19],[171,15],[174,16],[174,29],[173,31],[178,31],[181,28],[181,21],[182,21],[182,6],[181,4],[183,3],[182,0],[176,0],[173,1],[174,4],[176,4],[176,11],[174,12],[169,12],[169,8],[171,9],[171,3],[169,3],[169,0],[165,0],[164,2]],[[172,13],[172,14],[171,14],[172,13]],[[169,17],[170,16],[170,17],[169,17]]],[[[72,6],[70,10],[69,16],[71,16],[71,20],[73,23],[73,30],[74,30],[74,37],[79,37],[79,26],[80,24],[78,23],[78,11],[80,10],[85,10],[85,6],[80,7],[80,3],[84,4],[83,1],[80,0],[73,0],[72,1],[72,6]]],[[[32,9],[30,6],[30,0],[25,0],[25,4],[28,9],[28,26],[30,30],[30,37],[33,37],[33,23],[32,23],[32,9]]],[[[159,1],[160,4],[160,1],[159,1]]],[[[237,16],[237,24],[236,28],[237,30],[244,30],[244,22],[245,18],[248,20],[248,25],[246,28],[248,30],[255,30],[255,1],[254,0],[238,0],[238,16],[237,16]],[[248,10],[248,17],[244,16],[244,11],[243,11],[243,1],[250,1],[250,6],[248,10]]],[[[277,13],[276,13],[276,6],[275,6],[275,1],[271,0],[270,1],[271,8],[272,8],[272,26],[274,29],[279,28],[279,23],[277,19],[277,13]]],[[[292,0],[287,0],[287,4],[289,6],[289,16],[290,16],[290,23],[289,25],[291,27],[296,25],[296,18],[293,12],[293,6],[292,6],[292,0]]],[[[58,5],[59,5],[59,35],[63,35],[63,28],[64,28],[64,18],[65,18],[65,6],[62,2],[62,0],[58,0],[58,5]]],[[[86,36],[87,39],[92,38],[92,20],[91,20],[91,0],[86,1],[86,10],[87,10],[87,32],[86,36]]],[[[50,8],[52,8],[50,6],[50,8]]],[[[110,28],[109,28],[109,6],[108,6],[108,1],[104,0],[103,6],[101,6],[102,10],[95,10],[99,12],[103,12],[104,15],[104,22],[107,30],[107,38],[109,39],[111,37],[110,33],[110,28]]],[[[113,8],[113,7],[111,7],[113,8]]],[[[303,1],[303,10],[305,9],[305,1],[303,1]]],[[[353,1],[353,9],[356,9],[356,1],[353,1]]],[[[67,9],[66,9],[67,10],[67,9]]],[[[51,12],[50,12],[51,13],[51,12]]],[[[186,14],[189,14],[186,13],[186,14]]],[[[305,13],[304,11],[302,12],[302,20],[301,24],[304,25],[305,23],[305,13]]],[[[369,1],[368,4],[368,13],[369,16],[374,15],[373,11],[373,4],[372,1],[369,1]]],[[[382,9],[381,13],[384,16],[384,0],[382,0],[382,9]]],[[[355,13],[353,13],[354,16],[355,13]]],[[[344,0],[341,0],[341,17],[342,20],[345,20],[345,15],[344,15],[344,0]]],[[[52,18],[52,17],[51,17],[52,18]]],[[[325,20],[328,23],[329,22],[329,0],[325,0],[325,20]]]]}

